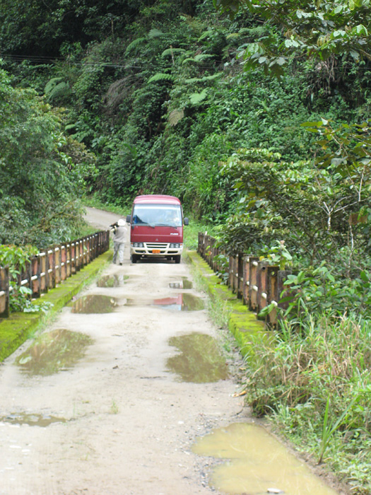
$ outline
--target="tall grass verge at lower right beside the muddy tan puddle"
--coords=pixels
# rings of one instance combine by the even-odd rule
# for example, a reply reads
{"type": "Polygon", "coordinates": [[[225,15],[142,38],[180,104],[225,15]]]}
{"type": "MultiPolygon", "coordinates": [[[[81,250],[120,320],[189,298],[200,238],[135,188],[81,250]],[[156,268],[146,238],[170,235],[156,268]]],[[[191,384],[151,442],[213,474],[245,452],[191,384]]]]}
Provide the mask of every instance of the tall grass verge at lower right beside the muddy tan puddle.
{"type": "Polygon", "coordinates": [[[247,402],[353,494],[371,494],[371,322],[353,314],[282,322],[247,361],[247,402]]]}

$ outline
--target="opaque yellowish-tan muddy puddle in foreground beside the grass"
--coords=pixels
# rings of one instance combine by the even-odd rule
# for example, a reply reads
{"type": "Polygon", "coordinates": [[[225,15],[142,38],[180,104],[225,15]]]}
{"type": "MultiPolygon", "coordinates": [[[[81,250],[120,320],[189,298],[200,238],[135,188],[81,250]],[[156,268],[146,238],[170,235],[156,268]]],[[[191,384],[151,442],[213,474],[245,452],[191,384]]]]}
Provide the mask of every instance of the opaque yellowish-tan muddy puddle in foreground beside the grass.
{"type": "Polygon", "coordinates": [[[228,459],[216,466],[211,485],[229,495],[337,495],[310,469],[255,424],[237,423],[199,438],[194,453],[228,459]]]}

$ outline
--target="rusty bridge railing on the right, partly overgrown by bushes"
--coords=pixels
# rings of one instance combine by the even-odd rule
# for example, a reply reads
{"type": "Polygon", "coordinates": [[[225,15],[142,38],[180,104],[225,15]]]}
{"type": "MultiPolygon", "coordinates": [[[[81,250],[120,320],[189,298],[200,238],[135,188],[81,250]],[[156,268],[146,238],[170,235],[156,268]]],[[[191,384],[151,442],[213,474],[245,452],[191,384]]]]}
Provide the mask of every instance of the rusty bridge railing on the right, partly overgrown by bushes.
{"type": "MultiPolygon", "coordinates": [[[[215,271],[223,271],[223,250],[216,247],[216,239],[199,232],[198,252],[215,271]]],[[[290,271],[260,261],[259,257],[240,253],[229,256],[228,286],[242,298],[249,310],[260,313],[267,305],[273,304],[273,310],[266,315],[266,323],[272,327],[277,324],[277,309],[287,308],[288,302],[281,303],[280,295],[285,289],[284,282],[290,271]]]]}

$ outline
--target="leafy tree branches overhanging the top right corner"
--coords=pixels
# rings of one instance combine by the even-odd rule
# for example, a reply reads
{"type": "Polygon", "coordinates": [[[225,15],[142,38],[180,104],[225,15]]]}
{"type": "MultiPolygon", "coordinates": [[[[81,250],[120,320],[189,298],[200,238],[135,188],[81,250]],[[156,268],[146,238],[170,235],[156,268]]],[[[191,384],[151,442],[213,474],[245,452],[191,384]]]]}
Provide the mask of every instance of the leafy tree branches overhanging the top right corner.
{"type": "Polygon", "coordinates": [[[334,56],[371,60],[370,0],[213,0],[216,8],[234,17],[249,11],[266,25],[258,42],[241,52],[247,69],[263,66],[266,74],[283,74],[291,59],[309,58],[323,63],[334,56]],[[274,35],[271,28],[278,28],[274,35]]]}

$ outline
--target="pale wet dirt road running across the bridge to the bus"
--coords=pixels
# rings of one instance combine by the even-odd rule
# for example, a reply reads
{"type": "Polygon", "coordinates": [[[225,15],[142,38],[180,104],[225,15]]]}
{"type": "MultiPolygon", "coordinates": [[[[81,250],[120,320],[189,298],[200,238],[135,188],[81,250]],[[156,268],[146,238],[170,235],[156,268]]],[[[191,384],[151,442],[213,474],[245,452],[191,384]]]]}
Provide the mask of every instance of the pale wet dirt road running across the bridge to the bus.
{"type": "MultiPolygon", "coordinates": [[[[118,217],[90,209],[87,218],[107,228],[118,217]]],[[[124,265],[103,276],[0,368],[0,494],[215,494],[207,458],[191,447],[213,427],[244,421],[242,399],[230,378],[186,381],[208,371],[192,371],[199,356],[172,368],[178,341],[169,342],[217,337],[192,299],[204,294],[185,289],[184,262],[130,264],[127,245],[124,265]],[[105,303],[110,313],[100,312],[105,303]]]]}

